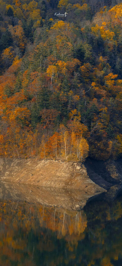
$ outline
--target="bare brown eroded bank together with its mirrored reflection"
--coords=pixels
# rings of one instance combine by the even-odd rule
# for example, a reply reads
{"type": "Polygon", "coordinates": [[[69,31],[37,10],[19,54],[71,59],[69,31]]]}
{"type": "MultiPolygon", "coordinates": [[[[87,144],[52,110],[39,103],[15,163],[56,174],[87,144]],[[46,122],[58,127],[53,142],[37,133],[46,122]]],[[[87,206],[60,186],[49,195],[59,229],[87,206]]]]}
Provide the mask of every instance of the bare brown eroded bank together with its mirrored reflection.
{"type": "Polygon", "coordinates": [[[113,172],[116,183],[121,183],[116,166],[114,171],[106,170],[108,166],[104,170],[109,171],[110,182],[104,177],[105,173],[100,174],[100,166],[96,172],[93,166],[90,161],[82,166],[78,162],[60,160],[0,158],[0,198],[81,209],[92,197],[113,187],[113,172]]]}

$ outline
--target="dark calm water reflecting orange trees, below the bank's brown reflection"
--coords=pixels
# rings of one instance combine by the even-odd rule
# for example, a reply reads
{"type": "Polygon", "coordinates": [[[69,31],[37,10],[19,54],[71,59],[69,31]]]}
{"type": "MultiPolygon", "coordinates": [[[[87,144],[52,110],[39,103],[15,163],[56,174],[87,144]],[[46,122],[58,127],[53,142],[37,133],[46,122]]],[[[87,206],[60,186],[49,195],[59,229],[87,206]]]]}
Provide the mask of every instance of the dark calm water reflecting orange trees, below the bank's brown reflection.
{"type": "Polygon", "coordinates": [[[0,266],[122,265],[122,197],[81,212],[0,202],[0,266]]]}

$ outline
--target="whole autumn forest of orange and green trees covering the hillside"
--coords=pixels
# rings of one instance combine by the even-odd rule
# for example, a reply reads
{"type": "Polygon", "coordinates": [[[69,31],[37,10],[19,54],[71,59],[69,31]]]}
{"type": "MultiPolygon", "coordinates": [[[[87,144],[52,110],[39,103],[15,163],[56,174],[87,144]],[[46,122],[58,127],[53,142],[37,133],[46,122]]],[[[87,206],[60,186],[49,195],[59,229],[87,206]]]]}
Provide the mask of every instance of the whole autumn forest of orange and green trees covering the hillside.
{"type": "Polygon", "coordinates": [[[0,0],[0,156],[122,156],[119,0],[0,0]]]}

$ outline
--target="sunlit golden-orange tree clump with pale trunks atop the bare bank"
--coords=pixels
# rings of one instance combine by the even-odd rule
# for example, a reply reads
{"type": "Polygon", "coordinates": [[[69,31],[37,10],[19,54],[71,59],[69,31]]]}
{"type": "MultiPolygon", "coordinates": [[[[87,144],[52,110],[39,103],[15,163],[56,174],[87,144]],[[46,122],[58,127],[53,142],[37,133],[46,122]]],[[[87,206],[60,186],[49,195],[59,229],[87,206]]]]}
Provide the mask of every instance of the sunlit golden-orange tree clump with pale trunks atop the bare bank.
{"type": "MultiPolygon", "coordinates": [[[[71,119],[76,115],[77,111],[74,110],[71,112],[71,119]]],[[[41,158],[46,158],[49,156],[52,157],[63,157],[65,159],[73,158],[84,161],[88,156],[89,146],[86,139],[83,138],[82,134],[84,131],[87,131],[87,127],[81,125],[81,123],[74,118],[74,121],[69,124],[69,129],[64,125],[60,125],[60,133],[55,132],[52,137],[48,138],[48,141],[45,141],[43,136],[41,146],[40,146],[40,155],[41,158]]]]}

